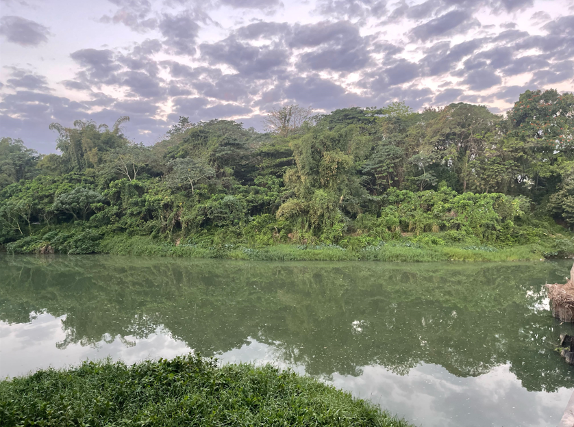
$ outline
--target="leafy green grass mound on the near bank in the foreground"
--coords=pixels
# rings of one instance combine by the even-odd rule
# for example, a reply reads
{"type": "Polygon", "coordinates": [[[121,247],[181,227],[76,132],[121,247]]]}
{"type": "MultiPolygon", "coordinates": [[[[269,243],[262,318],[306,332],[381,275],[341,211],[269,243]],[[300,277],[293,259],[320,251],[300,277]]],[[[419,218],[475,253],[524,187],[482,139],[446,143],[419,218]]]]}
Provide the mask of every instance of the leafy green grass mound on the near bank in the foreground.
{"type": "Polygon", "coordinates": [[[86,362],[3,380],[0,425],[410,426],[312,378],[192,355],[131,367],[86,362]]]}

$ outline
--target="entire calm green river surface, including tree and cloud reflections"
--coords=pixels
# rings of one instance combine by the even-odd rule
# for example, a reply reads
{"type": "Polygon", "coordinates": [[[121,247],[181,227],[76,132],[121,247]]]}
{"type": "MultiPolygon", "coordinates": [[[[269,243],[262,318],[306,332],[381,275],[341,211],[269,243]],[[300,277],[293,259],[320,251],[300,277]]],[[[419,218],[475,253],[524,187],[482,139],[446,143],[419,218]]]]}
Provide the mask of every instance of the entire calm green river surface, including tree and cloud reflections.
{"type": "Polygon", "coordinates": [[[272,362],[422,426],[554,426],[574,369],[553,263],[0,255],[0,375],[195,351],[272,362]]]}

